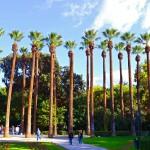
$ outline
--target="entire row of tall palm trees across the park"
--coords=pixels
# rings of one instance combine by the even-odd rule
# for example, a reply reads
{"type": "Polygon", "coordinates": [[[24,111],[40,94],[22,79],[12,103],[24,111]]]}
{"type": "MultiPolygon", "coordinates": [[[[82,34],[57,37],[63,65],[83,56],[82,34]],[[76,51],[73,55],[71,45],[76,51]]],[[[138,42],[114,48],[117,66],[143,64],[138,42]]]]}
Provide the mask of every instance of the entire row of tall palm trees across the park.
{"type": "MultiPolygon", "coordinates": [[[[4,30],[0,29],[0,36],[4,34],[4,30]]],[[[111,97],[111,129],[112,135],[116,134],[115,129],[115,115],[114,115],[114,85],[113,85],[113,38],[118,37],[120,33],[116,29],[106,29],[103,32],[104,37],[106,38],[102,41],[98,47],[102,49],[102,58],[103,58],[103,100],[104,100],[104,130],[107,130],[106,127],[106,53],[109,51],[109,64],[110,64],[110,97],[111,97]]],[[[93,99],[93,51],[97,48],[96,41],[99,39],[98,32],[95,30],[88,30],[85,32],[82,37],[81,49],[85,49],[86,58],[87,58],[87,134],[94,135],[94,99],[93,99]]],[[[17,42],[19,42],[23,38],[23,33],[19,31],[13,31],[10,33],[10,37],[14,40],[12,45],[13,51],[13,61],[12,61],[12,69],[10,76],[10,85],[8,90],[8,98],[7,98],[7,109],[6,109],[6,125],[5,125],[5,134],[4,136],[9,135],[9,116],[10,116],[10,104],[11,104],[11,95],[12,95],[12,86],[14,79],[14,69],[16,63],[16,54],[18,50],[17,42]]],[[[26,137],[31,136],[31,107],[32,107],[32,94],[33,94],[33,83],[35,78],[35,99],[34,99],[34,132],[36,130],[36,110],[37,110],[37,99],[38,99],[38,60],[39,60],[39,51],[44,46],[44,43],[49,48],[50,51],[50,97],[49,97],[49,132],[48,136],[53,136],[53,108],[56,107],[55,102],[55,59],[56,59],[56,48],[61,46],[63,41],[61,35],[56,33],[51,33],[48,37],[44,38],[40,32],[30,32],[29,35],[30,40],[32,41],[32,71],[31,71],[31,80],[30,80],[30,90],[28,97],[28,117],[27,117],[27,129],[26,129],[26,137]],[[36,70],[36,71],[35,71],[36,70]],[[35,75],[34,75],[35,74],[35,75]],[[54,106],[55,105],[55,106],[54,106]]],[[[144,33],[141,34],[139,38],[135,38],[135,35],[130,32],[126,32],[121,35],[121,39],[123,42],[120,42],[115,45],[115,49],[118,51],[118,59],[119,59],[119,68],[120,68],[120,106],[121,106],[121,115],[124,118],[124,101],[123,101],[123,78],[122,78],[122,59],[123,54],[122,50],[126,50],[128,57],[128,74],[129,74],[129,98],[130,98],[130,113],[131,113],[131,131],[132,134],[135,135],[135,121],[134,121],[134,110],[133,110],[133,91],[132,91],[132,78],[131,78],[131,52],[137,54],[137,103],[138,110],[140,112],[140,95],[139,95],[139,61],[140,55],[139,53],[145,49],[145,53],[147,55],[147,85],[149,91],[149,100],[150,100],[150,60],[149,60],[149,52],[150,52],[150,34],[144,33]],[[139,43],[135,47],[131,47],[132,42],[139,43]],[[125,43],[124,43],[125,42],[125,43]],[[143,48],[142,45],[145,45],[143,48]]],[[[76,47],[75,41],[66,41],[65,47],[69,49],[68,56],[70,60],[70,96],[69,96],[69,124],[68,131],[73,132],[73,49],[76,47]]],[[[25,53],[27,49],[22,48],[22,60],[23,60],[23,93],[25,90],[25,53]]],[[[24,97],[24,95],[23,95],[24,97]]],[[[24,98],[22,97],[22,120],[21,124],[23,127],[24,124],[24,98]]],[[[149,102],[150,104],[150,102],[149,102]]],[[[150,108],[150,106],[149,106],[150,108]]],[[[149,109],[150,110],[150,109],[149,109]]],[[[56,109],[55,109],[56,111],[56,109]]]]}

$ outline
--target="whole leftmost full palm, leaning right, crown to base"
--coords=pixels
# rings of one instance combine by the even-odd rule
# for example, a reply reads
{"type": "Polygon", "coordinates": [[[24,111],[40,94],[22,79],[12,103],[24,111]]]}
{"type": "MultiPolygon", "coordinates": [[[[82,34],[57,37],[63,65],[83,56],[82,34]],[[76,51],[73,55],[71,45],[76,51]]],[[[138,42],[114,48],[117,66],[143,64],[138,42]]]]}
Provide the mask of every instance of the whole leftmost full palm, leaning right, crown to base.
{"type": "Polygon", "coordinates": [[[16,64],[16,57],[17,57],[17,50],[18,50],[17,42],[22,40],[23,33],[20,32],[20,31],[14,30],[9,35],[10,35],[11,39],[14,40],[14,43],[12,44],[13,60],[12,60],[12,68],[11,68],[11,75],[10,75],[8,97],[7,97],[6,121],[5,121],[4,137],[8,137],[9,136],[10,105],[11,105],[12,87],[13,87],[13,80],[14,80],[14,73],[15,73],[15,64],[16,64]]]}

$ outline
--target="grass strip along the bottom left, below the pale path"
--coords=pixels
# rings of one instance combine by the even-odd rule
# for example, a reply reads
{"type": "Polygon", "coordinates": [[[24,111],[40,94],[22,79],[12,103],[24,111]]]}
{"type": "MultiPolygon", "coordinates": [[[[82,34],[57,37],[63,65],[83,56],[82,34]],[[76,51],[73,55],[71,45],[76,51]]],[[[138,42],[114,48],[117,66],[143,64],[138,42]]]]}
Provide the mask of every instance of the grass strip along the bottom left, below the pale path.
{"type": "Polygon", "coordinates": [[[52,143],[0,143],[0,150],[64,150],[52,143]]]}

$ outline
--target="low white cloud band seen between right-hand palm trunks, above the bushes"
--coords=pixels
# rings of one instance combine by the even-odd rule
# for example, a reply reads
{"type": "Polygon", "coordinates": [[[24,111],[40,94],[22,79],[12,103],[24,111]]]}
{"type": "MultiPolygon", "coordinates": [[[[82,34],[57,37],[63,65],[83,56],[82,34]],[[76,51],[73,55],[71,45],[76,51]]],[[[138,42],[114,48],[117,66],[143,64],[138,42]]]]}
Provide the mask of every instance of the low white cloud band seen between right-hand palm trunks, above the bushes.
{"type": "MultiPolygon", "coordinates": [[[[128,70],[124,69],[122,70],[123,74],[123,82],[127,83],[128,82],[128,70]]],[[[114,70],[113,71],[113,83],[119,84],[120,80],[120,71],[119,70],[114,70]]],[[[132,72],[132,82],[134,82],[134,73],[132,72]]],[[[100,77],[94,77],[94,85],[103,85],[103,74],[100,75],[100,77]]],[[[106,72],[106,86],[109,87],[110,85],[110,76],[109,73],[106,72]]]]}

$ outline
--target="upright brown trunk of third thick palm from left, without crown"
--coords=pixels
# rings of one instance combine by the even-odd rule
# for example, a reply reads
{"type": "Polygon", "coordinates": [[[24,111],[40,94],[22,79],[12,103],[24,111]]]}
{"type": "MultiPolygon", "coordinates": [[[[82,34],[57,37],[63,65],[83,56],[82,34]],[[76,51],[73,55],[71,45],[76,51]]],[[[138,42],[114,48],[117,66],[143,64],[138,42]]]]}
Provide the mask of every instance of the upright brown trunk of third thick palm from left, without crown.
{"type": "Polygon", "coordinates": [[[48,137],[53,137],[53,94],[54,94],[54,60],[55,48],[50,46],[50,98],[49,98],[49,131],[48,137]]]}

